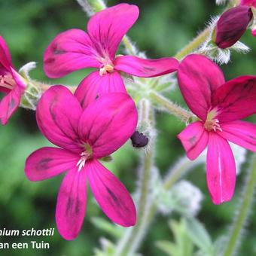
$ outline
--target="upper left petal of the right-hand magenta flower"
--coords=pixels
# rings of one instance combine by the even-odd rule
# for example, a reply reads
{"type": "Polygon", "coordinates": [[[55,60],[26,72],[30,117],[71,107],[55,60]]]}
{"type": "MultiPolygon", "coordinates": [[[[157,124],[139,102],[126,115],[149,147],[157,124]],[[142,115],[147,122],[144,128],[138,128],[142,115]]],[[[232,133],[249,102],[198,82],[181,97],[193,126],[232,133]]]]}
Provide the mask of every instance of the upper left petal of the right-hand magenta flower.
{"type": "Polygon", "coordinates": [[[206,120],[211,107],[212,92],[224,84],[221,69],[205,56],[191,54],[178,68],[178,85],[188,107],[206,120]]]}

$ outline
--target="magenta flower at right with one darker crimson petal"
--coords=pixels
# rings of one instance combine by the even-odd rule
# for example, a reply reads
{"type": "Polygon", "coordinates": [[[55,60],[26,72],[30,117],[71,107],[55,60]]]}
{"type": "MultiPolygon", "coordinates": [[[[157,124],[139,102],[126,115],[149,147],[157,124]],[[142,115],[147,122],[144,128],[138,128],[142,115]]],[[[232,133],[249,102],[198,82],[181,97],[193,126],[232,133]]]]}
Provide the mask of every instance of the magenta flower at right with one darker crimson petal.
{"type": "Polygon", "coordinates": [[[178,139],[190,160],[208,145],[206,177],[212,201],[233,197],[236,166],[227,141],[256,151],[256,125],[240,119],[256,113],[256,76],[224,81],[221,69],[205,56],[187,56],[178,69],[185,102],[200,120],[188,125],[178,139]]]}

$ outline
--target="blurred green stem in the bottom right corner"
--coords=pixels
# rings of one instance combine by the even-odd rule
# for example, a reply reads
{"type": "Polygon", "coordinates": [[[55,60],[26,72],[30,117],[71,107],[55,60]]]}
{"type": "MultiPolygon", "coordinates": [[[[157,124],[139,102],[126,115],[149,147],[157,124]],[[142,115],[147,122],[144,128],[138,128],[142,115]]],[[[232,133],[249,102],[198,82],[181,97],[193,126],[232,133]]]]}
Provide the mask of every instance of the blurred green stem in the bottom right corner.
{"type": "Polygon", "coordinates": [[[242,203],[239,206],[238,215],[233,221],[233,227],[230,232],[230,239],[227,242],[224,256],[231,256],[236,250],[242,228],[245,226],[246,219],[251,209],[254,191],[256,190],[256,154],[254,154],[251,166],[251,172],[247,177],[244,190],[242,192],[242,203]]]}

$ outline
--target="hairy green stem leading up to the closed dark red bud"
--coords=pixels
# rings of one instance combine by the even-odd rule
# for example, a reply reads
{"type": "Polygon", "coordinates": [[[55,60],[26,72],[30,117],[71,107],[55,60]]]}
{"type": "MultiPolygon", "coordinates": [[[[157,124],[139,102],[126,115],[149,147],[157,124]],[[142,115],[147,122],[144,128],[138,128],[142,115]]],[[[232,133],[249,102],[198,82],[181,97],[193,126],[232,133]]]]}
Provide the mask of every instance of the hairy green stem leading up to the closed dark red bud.
{"type": "Polygon", "coordinates": [[[187,56],[187,54],[192,53],[194,50],[197,50],[197,48],[200,47],[200,44],[203,44],[203,42],[206,41],[206,39],[209,37],[210,32],[211,29],[209,27],[206,27],[206,29],[200,32],[200,34],[197,35],[194,40],[190,41],[189,44],[187,44],[174,56],[175,59],[181,60],[184,58],[184,56],[187,56]]]}

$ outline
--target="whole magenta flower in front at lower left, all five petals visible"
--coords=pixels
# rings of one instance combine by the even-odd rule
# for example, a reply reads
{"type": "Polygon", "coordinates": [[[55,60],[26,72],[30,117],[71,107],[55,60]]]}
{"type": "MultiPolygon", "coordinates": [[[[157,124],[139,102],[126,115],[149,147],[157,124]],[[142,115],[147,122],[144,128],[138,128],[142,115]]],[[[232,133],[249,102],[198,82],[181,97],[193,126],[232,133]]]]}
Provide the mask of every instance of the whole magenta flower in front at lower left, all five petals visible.
{"type": "Polygon", "coordinates": [[[87,181],[102,211],[123,227],[136,223],[136,208],[123,184],[99,159],[112,154],[132,136],[137,111],[126,93],[108,93],[84,110],[62,86],[41,97],[36,117],[39,129],[59,148],[41,148],[26,160],[31,181],[67,172],[59,189],[56,225],[65,239],[75,239],[84,221],[87,181]],[[69,103],[69,104],[67,104],[69,103]]]}

